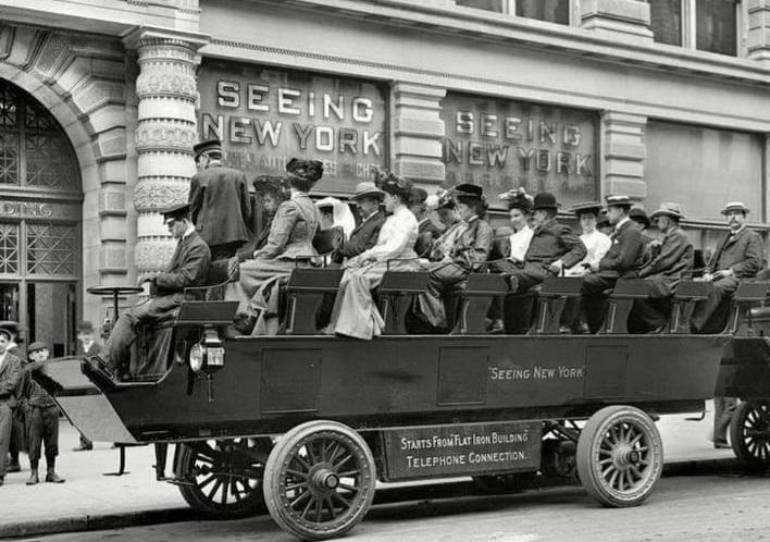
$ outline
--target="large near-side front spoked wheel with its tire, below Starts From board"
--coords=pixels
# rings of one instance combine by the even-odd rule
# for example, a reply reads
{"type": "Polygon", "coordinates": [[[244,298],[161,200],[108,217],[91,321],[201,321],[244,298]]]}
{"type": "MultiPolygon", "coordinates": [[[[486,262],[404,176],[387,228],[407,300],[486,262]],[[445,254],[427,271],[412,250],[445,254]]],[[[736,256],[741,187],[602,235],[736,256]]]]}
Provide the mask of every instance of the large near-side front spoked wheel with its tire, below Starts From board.
{"type": "Polygon", "coordinates": [[[339,537],[367,514],[376,470],[363,439],[334,421],[297,426],[275,445],[264,500],[275,522],[307,540],[339,537]]]}

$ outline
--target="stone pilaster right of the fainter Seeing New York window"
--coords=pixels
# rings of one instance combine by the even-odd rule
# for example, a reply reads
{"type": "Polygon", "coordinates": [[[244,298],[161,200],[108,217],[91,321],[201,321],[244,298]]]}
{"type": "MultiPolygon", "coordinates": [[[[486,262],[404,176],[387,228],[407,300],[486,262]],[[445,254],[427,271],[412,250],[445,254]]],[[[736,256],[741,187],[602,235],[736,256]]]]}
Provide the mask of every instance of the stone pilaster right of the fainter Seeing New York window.
{"type": "Polygon", "coordinates": [[[647,153],[645,116],[606,111],[601,115],[601,193],[623,194],[641,200],[647,196],[644,159],[647,153]]]}

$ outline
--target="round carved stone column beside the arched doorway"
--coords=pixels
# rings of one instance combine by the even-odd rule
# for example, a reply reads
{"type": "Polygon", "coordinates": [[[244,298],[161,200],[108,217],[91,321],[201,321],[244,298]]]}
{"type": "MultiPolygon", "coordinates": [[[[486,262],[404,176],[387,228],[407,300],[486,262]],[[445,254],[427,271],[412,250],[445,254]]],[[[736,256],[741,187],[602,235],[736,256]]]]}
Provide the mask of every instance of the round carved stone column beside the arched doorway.
{"type": "Polygon", "coordinates": [[[197,47],[182,38],[153,33],[139,37],[134,189],[138,213],[134,262],[139,275],[162,270],[171,260],[175,245],[160,211],[187,200],[189,177],[195,173],[197,47]]]}

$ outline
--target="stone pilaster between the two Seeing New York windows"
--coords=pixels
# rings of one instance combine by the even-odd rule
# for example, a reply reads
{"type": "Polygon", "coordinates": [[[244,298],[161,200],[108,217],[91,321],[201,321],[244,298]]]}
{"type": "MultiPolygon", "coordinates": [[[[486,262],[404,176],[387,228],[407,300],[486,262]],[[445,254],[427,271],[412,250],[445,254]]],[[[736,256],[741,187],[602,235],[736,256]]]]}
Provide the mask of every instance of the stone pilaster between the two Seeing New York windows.
{"type": "Polygon", "coordinates": [[[413,83],[393,86],[394,172],[418,184],[444,182],[444,121],[439,113],[446,94],[445,88],[413,83]]]}

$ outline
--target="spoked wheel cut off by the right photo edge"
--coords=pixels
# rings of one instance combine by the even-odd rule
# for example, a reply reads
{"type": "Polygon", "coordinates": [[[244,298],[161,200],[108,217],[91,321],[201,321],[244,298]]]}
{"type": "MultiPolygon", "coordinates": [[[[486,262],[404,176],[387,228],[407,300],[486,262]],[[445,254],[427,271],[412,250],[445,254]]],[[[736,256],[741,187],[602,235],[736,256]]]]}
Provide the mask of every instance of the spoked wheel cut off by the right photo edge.
{"type": "Polygon", "coordinates": [[[765,401],[741,403],[730,423],[735,457],[748,470],[770,467],[770,405],[765,401]]]}

